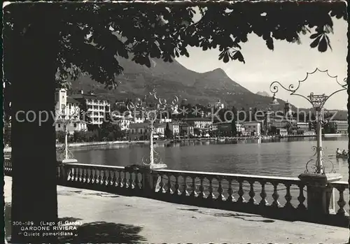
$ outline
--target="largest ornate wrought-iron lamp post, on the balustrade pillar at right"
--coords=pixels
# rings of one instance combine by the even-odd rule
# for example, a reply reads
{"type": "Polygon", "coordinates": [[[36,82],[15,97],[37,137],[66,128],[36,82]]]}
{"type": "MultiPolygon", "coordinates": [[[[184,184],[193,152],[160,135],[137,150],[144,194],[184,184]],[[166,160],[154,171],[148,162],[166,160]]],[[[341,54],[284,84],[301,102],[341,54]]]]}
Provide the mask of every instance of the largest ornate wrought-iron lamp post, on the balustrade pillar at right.
{"type": "MultiPolygon", "coordinates": [[[[283,85],[281,85],[280,82],[272,82],[272,84],[270,85],[270,91],[274,94],[272,96],[272,105],[278,105],[279,102],[276,99],[276,93],[279,91],[279,87],[285,89],[286,91],[290,92],[290,95],[296,95],[296,96],[301,96],[302,98],[306,99],[307,101],[309,101],[309,103],[311,103],[312,107],[314,108],[315,112],[316,112],[316,138],[317,138],[317,145],[316,147],[313,147],[313,150],[316,150],[315,155],[317,155],[316,157],[316,164],[314,164],[314,166],[312,166],[312,168],[314,168],[314,172],[312,173],[316,173],[316,174],[325,174],[325,166],[324,166],[324,159],[323,159],[323,149],[322,149],[322,126],[324,124],[327,123],[327,121],[323,120],[323,106],[325,104],[326,101],[328,101],[328,99],[336,94],[337,92],[341,92],[346,90],[347,85],[346,85],[346,79],[344,79],[344,84],[341,84],[338,82],[337,80],[337,76],[330,76],[330,74],[328,73],[328,70],[325,71],[321,71],[319,69],[315,69],[315,71],[311,72],[311,73],[307,73],[306,78],[304,78],[304,80],[299,80],[298,84],[296,87],[294,87],[294,85],[289,85],[289,87],[284,87],[283,85]],[[304,82],[305,80],[307,80],[307,78],[309,77],[309,75],[316,73],[316,71],[322,72],[322,73],[326,73],[328,77],[330,78],[335,78],[335,80],[337,81],[338,85],[340,85],[340,89],[338,89],[335,92],[332,92],[330,95],[325,95],[325,94],[314,94],[313,92],[311,92],[309,94],[309,96],[304,96],[302,94],[297,94],[297,89],[300,88],[300,85],[302,84],[302,82],[304,82]]],[[[314,159],[310,159],[309,162],[313,161],[314,159]]],[[[329,161],[329,160],[328,160],[329,161]]],[[[306,165],[306,171],[305,173],[309,173],[309,170],[307,168],[309,162],[307,162],[306,165]]],[[[330,161],[329,161],[330,162],[330,161]]],[[[330,162],[332,164],[332,162],[330,162]]],[[[332,171],[333,171],[333,164],[332,164],[332,171]]]]}

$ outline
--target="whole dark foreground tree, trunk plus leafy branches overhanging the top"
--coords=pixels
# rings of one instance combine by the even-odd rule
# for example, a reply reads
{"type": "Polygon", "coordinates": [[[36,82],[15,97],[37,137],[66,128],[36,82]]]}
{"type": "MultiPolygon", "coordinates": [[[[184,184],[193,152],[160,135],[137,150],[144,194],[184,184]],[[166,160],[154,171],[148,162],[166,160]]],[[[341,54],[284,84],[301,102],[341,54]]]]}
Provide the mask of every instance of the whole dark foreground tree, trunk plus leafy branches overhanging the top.
{"type": "MultiPolygon", "coordinates": [[[[68,78],[82,73],[116,87],[123,72],[118,57],[150,67],[152,57],[172,62],[196,46],[218,48],[223,62],[245,62],[241,43],[250,33],[273,50],[274,40],[299,43],[301,34],[316,27],[310,46],[325,52],[331,16],[345,19],[345,3],[10,3],[3,7],[4,108],[12,117],[20,110],[55,113],[57,83],[69,86],[68,78]],[[198,22],[193,6],[202,13],[198,22]]],[[[12,221],[56,222],[54,121],[49,117],[39,126],[22,119],[12,122],[12,221]]],[[[13,243],[39,240],[12,228],[13,243]]],[[[40,236],[40,242],[53,243],[55,236],[40,236]]]]}

